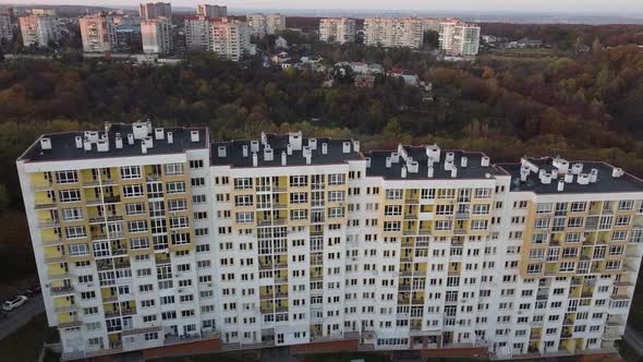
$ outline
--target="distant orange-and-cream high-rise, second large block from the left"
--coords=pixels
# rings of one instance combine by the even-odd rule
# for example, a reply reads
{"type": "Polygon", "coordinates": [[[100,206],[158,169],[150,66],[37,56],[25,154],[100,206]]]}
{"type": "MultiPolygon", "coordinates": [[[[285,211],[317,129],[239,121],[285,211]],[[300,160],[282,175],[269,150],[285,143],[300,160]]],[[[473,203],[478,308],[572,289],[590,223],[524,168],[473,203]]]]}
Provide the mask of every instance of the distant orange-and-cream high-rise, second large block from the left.
{"type": "Polygon", "coordinates": [[[113,16],[98,13],[81,17],[81,38],[84,52],[114,51],[118,44],[113,16]]]}

